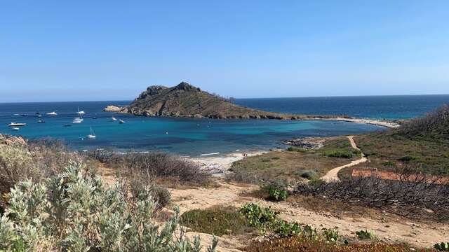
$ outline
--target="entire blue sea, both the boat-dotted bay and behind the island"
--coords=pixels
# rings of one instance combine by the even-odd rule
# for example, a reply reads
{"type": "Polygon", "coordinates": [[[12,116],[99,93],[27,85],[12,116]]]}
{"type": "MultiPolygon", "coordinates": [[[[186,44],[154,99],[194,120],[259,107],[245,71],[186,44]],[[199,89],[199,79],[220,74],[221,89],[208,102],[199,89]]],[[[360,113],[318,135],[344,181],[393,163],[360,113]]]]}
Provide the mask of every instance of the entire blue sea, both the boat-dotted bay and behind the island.
{"type": "MultiPolygon", "coordinates": [[[[129,103],[0,103],[0,134],[19,135],[27,139],[60,139],[76,151],[109,148],[121,152],[158,151],[207,157],[285,148],[283,140],[298,137],[329,137],[385,130],[380,126],[340,121],[148,118],[102,111],[107,105],[129,103]],[[83,123],[73,124],[78,109],[86,114],[83,123]],[[53,111],[58,115],[46,115],[53,111]],[[38,113],[41,118],[37,117],[38,113]],[[113,116],[116,121],[112,120],[113,116]],[[39,119],[45,123],[38,123],[39,119]],[[126,123],[120,124],[119,120],[126,123]],[[27,125],[13,131],[8,127],[11,122],[27,125]],[[87,138],[91,129],[96,135],[95,139],[87,138]]],[[[235,99],[234,103],[280,113],[393,120],[424,116],[438,106],[449,103],[449,95],[235,99]]]]}

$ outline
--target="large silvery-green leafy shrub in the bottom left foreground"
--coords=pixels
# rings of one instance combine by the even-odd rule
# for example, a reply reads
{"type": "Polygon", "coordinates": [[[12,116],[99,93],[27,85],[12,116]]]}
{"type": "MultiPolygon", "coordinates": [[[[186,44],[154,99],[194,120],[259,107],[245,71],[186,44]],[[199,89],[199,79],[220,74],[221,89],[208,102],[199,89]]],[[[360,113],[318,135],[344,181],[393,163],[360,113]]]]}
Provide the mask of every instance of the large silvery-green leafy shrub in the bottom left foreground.
{"type": "MultiPolygon", "coordinates": [[[[179,208],[163,228],[154,223],[151,195],[132,197],[121,184],[105,188],[99,176],[70,163],[46,183],[14,186],[0,222],[0,251],[200,251],[199,237],[173,235],[179,208]]],[[[216,245],[214,239],[208,251],[216,245]]]]}

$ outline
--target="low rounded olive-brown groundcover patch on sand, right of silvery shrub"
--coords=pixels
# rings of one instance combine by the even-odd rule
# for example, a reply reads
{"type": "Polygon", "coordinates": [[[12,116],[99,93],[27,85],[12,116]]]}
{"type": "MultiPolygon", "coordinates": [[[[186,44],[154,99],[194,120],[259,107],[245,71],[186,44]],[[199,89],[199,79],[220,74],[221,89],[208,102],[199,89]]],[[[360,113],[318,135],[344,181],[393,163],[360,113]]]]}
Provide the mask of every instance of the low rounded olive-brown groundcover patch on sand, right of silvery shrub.
{"type": "Polygon", "coordinates": [[[251,232],[246,218],[236,209],[194,209],[182,214],[181,225],[211,235],[243,235],[251,232]]]}

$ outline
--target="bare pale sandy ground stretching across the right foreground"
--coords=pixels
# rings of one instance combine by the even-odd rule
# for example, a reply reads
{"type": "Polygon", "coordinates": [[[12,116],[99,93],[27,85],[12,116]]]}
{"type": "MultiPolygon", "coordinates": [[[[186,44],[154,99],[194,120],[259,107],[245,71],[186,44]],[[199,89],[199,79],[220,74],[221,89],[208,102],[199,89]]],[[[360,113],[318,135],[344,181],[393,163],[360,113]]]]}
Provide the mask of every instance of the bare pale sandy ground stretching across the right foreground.
{"type": "MultiPolygon", "coordinates": [[[[196,188],[186,190],[171,190],[173,202],[180,206],[182,212],[191,209],[206,209],[209,207],[234,206],[240,207],[246,202],[260,202],[279,211],[280,217],[286,221],[297,221],[312,225],[317,230],[337,227],[341,235],[355,237],[358,230],[374,230],[380,240],[387,242],[406,241],[415,246],[432,246],[445,241],[449,235],[449,225],[438,223],[417,223],[412,221],[382,221],[370,218],[339,218],[326,212],[309,211],[288,202],[265,202],[259,199],[242,196],[247,195],[257,186],[222,182],[217,188],[196,188]]],[[[405,219],[404,219],[405,220],[405,219]]],[[[193,235],[193,234],[191,234],[193,235]]],[[[203,237],[203,234],[199,234],[203,237]]],[[[210,242],[206,235],[204,241],[210,242]]],[[[241,248],[244,241],[231,237],[219,237],[219,251],[235,251],[241,248]]]]}

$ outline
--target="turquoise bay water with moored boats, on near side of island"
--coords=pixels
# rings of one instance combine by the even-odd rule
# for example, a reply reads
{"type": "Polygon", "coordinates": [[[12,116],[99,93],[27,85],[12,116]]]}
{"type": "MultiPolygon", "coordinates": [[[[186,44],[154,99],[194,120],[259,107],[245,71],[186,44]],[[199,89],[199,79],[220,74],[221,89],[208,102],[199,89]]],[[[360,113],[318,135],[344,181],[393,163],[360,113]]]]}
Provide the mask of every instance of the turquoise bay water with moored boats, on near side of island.
{"type": "Polygon", "coordinates": [[[295,120],[208,120],[187,118],[146,118],[102,112],[108,104],[128,102],[48,102],[0,104],[0,132],[29,139],[62,139],[77,150],[113,148],[119,151],[164,151],[196,156],[207,153],[232,153],[268,149],[293,137],[325,137],[382,130],[382,127],[336,121],[295,120]],[[71,124],[77,107],[86,111],[83,123],[71,124]],[[43,115],[37,123],[36,112],[43,115]],[[23,116],[14,116],[19,114],[23,116]],[[96,116],[97,119],[93,119],[96,116]],[[125,120],[113,122],[111,117],[125,120]],[[18,132],[7,125],[27,123],[18,132]],[[71,127],[63,125],[71,124],[71,127]],[[97,138],[86,139],[93,128],[97,138]]]}

